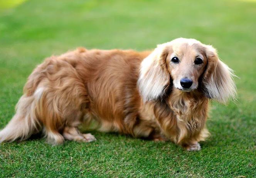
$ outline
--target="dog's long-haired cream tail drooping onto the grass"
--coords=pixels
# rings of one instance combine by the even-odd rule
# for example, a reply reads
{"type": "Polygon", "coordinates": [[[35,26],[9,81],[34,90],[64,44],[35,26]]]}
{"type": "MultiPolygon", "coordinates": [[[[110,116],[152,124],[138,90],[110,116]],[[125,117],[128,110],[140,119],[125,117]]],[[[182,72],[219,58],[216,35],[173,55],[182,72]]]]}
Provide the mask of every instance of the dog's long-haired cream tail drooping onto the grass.
{"type": "MultiPolygon", "coordinates": [[[[40,93],[37,93],[40,95],[40,93]]],[[[42,93],[41,93],[42,94],[42,93]]],[[[25,140],[41,130],[36,108],[38,95],[23,95],[16,105],[16,113],[7,126],[0,131],[0,143],[3,141],[25,140]]]]}

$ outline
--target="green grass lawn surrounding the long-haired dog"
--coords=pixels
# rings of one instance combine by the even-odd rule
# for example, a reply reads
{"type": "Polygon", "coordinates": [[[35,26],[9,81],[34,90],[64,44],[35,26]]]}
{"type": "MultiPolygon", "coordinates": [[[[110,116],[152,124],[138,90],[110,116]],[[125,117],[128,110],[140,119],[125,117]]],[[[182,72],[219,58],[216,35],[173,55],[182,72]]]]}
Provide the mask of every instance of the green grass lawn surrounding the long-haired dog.
{"type": "Polygon", "coordinates": [[[0,177],[255,178],[255,32],[255,1],[27,0],[0,8],[0,128],[12,118],[33,68],[78,46],[145,50],[196,38],[214,45],[240,78],[236,104],[212,103],[212,135],[201,151],[99,132],[93,143],[3,143],[0,177]]]}

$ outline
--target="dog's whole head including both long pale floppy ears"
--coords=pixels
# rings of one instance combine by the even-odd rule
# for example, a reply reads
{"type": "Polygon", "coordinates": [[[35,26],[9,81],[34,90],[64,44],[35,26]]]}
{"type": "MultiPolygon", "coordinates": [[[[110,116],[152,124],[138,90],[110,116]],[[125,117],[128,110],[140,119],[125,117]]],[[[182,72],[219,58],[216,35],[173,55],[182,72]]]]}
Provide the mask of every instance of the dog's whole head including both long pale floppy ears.
{"type": "Polygon", "coordinates": [[[138,87],[144,101],[157,100],[172,87],[183,92],[200,90],[225,103],[236,95],[233,76],[212,46],[177,38],[158,45],[143,60],[138,87]]]}

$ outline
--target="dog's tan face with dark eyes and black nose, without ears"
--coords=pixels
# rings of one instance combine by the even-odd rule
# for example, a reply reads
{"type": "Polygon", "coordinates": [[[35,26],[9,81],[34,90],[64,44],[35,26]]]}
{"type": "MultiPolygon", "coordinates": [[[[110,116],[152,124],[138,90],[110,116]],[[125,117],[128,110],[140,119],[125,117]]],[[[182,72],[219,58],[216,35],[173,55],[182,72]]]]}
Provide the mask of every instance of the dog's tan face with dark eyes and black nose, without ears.
{"type": "Polygon", "coordinates": [[[204,46],[196,40],[178,38],[166,45],[165,50],[173,87],[185,92],[196,90],[207,65],[204,46]]]}

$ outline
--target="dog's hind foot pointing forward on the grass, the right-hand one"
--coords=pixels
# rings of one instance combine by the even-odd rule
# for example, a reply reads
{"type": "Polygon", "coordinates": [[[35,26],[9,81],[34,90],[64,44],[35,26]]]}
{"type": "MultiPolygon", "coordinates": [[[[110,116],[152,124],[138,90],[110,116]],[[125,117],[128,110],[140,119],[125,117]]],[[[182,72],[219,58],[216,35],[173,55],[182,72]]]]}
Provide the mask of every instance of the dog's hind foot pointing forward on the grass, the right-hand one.
{"type": "Polygon", "coordinates": [[[83,142],[91,142],[96,140],[96,138],[90,133],[87,133],[87,134],[80,133],[76,127],[66,126],[63,130],[62,135],[66,140],[83,141],[83,142]]]}

